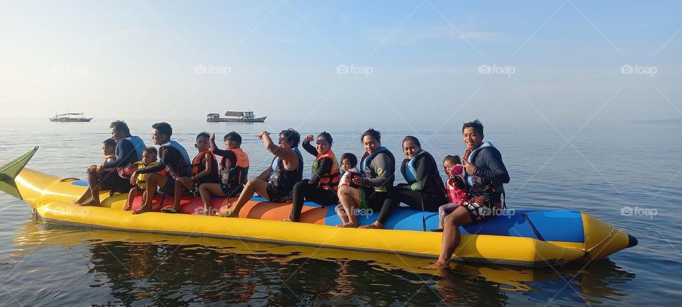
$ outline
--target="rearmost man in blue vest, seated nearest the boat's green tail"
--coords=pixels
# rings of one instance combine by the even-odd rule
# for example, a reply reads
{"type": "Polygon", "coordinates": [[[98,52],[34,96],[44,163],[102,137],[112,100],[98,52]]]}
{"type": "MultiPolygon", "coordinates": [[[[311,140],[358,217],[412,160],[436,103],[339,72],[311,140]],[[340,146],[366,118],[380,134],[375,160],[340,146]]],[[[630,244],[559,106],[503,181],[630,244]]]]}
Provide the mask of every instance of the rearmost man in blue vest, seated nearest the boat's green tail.
{"type": "Polygon", "coordinates": [[[141,138],[130,135],[128,125],[123,121],[114,121],[109,128],[112,129],[112,138],[116,141],[115,157],[96,167],[88,167],[87,185],[90,193],[83,194],[75,201],[79,206],[99,206],[99,189],[127,193],[132,187],[128,179],[119,177],[117,172],[104,172],[104,169],[125,167],[141,160],[142,150],[145,148],[144,142],[141,138]],[[92,196],[92,200],[86,203],[85,199],[88,196],[92,196]]]}

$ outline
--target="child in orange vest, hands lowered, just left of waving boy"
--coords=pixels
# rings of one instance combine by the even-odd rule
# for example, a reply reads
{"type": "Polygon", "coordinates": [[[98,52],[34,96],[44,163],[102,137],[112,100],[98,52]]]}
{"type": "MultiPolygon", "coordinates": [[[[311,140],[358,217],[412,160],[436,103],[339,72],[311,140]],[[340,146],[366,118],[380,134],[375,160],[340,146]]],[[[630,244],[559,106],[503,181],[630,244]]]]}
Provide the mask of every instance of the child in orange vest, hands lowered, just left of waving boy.
{"type": "Polygon", "coordinates": [[[162,212],[179,213],[180,196],[190,191],[194,196],[199,195],[199,186],[205,183],[217,184],[220,182],[218,177],[218,162],[211,151],[211,135],[202,132],[197,135],[196,144],[199,153],[192,161],[192,176],[178,177],[175,179],[175,197],[172,208],[162,208],[162,212]]]}

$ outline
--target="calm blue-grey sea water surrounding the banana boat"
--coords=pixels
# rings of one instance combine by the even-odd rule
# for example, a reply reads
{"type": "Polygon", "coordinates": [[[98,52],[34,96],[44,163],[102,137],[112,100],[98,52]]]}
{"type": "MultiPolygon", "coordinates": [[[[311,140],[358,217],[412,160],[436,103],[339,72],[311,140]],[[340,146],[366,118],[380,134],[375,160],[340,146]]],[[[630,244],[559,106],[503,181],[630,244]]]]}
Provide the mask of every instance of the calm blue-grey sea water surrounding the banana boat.
{"type": "MultiPolygon", "coordinates": [[[[153,122],[129,125],[151,145],[153,122]]],[[[292,125],[170,123],[173,138],[188,149],[202,130],[219,139],[230,130],[242,133],[254,174],[271,156],[252,135],[292,125]]],[[[681,123],[595,123],[558,131],[543,123],[485,124],[486,140],[502,151],[511,174],[509,207],[587,211],[636,236],[639,245],[608,259],[556,269],[458,263],[432,275],[415,269],[430,260],[391,254],[55,227],[36,220],[23,201],[0,194],[0,304],[676,306],[681,301],[681,123]],[[623,215],[626,207],[656,214],[623,215]]],[[[28,167],[84,177],[86,165],[102,160],[99,148],[109,136],[108,125],[104,119],[0,121],[0,162],[39,145],[28,167]]],[[[359,135],[366,127],[297,128],[332,133],[338,154],[362,153],[359,135]]],[[[435,157],[464,152],[458,125],[440,131],[375,128],[396,157],[405,135],[420,138],[435,157]]],[[[309,174],[312,156],[304,158],[309,174]]]]}

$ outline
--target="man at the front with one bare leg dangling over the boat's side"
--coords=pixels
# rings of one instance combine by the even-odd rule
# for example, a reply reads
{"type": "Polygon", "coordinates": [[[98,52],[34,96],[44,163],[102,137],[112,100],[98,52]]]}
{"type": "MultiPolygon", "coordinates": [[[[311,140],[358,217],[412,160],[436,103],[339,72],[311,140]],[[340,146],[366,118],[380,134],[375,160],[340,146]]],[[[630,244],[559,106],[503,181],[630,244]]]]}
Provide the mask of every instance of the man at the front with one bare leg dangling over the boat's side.
{"type": "Polygon", "coordinates": [[[462,125],[462,136],[467,152],[462,166],[466,170],[467,189],[471,196],[462,206],[450,213],[443,222],[443,245],[434,267],[445,267],[460,244],[460,226],[483,221],[502,213],[504,187],[509,183],[502,154],[492,143],[483,143],[483,125],[475,120],[462,125]]]}

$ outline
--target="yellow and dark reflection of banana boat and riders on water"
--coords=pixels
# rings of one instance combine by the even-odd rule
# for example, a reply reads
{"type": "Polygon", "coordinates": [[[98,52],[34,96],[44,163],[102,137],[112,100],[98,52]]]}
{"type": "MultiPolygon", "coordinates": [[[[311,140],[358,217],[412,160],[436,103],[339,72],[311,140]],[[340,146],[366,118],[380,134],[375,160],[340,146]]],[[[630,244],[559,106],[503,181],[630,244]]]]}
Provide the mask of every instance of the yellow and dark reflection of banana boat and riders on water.
{"type": "MultiPolygon", "coordinates": [[[[634,274],[608,259],[545,269],[431,262],[386,253],[350,252],[239,240],[184,238],[80,228],[23,225],[15,254],[60,246],[90,259],[90,287],[109,298],[87,303],[126,306],[241,303],[251,306],[504,306],[613,303],[628,294],[615,285],[634,274]]],[[[64,267],[67,270],[82,269],[64,267]]],[[[65,290],[63,290],[65,291],[65,290]]]]}

